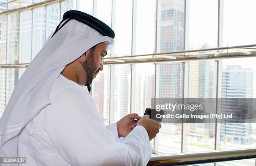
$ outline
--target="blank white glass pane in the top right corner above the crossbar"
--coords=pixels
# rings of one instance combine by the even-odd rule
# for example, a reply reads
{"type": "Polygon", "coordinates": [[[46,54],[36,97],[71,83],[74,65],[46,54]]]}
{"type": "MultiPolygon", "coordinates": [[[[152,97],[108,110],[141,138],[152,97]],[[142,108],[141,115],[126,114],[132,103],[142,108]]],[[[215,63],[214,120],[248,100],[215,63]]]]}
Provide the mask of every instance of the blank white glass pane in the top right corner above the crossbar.
{"type": "Polygon", "coordinates": [[[256,43],[255,0],[224,0],[223,47],[256,43]],[[238,12],[239,11],[239,12],[238,12]]]}

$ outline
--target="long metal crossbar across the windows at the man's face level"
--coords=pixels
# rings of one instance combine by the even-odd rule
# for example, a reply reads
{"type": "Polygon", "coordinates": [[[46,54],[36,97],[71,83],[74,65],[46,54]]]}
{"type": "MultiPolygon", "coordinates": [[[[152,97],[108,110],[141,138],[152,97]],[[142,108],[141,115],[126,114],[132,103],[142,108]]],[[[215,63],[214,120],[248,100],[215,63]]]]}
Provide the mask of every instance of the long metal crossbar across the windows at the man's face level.
{"type": "MultiPolygon", "coordinates": [[[[128,55],[118,57],[103,58],[104,65],[118,65],[118,64],[133,64],[133,63],[162,63],[162,62],[184,62],[187,60],[210,60],[210,59],[225,59],[225,58],[248,58],[256,57],[256,44],[254,45],[239,45],[232,47],[209,48],[200,50],[183,50],[173,51],[167,53],[152,53],[143,55],[128,55]],[[224,52],[224,50],[236,50],[234,52],[224,52]],[[240,50],[239,50],[240,49],[240,50]],[[243,49],[243,50],[242,50],[243,49]],[[217,53],[200,53],[197,55],[189,55],[186,53],[205,52],[219,50],[217,53]],[[182,55],[183,54],[183,55],[182,55]]],[[[15,63],[15,64],[0,64],[0,68],[26,68],[29,63],[15,63]]]]}

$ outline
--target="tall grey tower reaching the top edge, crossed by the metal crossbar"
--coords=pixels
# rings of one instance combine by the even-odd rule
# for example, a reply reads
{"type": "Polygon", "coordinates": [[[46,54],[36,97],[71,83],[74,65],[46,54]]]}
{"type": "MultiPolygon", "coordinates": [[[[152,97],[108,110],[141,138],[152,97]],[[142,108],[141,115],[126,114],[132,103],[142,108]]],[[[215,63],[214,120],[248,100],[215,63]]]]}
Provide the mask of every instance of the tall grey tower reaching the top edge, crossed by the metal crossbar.
{"type": "MultiPolygon", "coordinates": [[[[160,52],[184,49],[184,0],[161,0],[160,52]]],[[[160,98],[182,97],[181,63],[160,64],[160,98]]]]}

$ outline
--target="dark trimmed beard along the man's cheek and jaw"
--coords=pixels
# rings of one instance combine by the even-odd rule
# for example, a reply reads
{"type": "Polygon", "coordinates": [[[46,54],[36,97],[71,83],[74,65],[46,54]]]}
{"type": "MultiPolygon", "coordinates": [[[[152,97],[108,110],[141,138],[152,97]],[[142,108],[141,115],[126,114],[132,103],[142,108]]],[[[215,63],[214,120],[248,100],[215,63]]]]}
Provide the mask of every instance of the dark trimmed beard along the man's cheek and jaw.
{"type": "Polygon", "coordinates": [[[84,68],[84,72],[86,73],[87,81],[89,81],[89,83],[92,84],[93,75],[97,71],[97,67],[95,67],[95,63],[94,63],[93,51],[92,50],[88,54],[88,57],[83,62],[80,62],[80,64],[84,68]]]}

